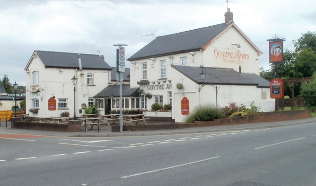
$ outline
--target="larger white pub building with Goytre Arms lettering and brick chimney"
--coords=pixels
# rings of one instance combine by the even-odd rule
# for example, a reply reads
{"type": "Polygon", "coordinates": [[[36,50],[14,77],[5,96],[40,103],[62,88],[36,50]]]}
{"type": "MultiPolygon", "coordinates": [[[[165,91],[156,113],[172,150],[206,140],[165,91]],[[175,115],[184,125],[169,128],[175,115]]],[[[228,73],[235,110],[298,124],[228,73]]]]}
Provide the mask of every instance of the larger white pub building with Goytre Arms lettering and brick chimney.
{"type": "Polygon", "coordinates": [[[205,103],[250,107],[254,101],[260,111],[273,111],[269,81],[259,76],[260,55],[228,9],[225,23],[157,37],[129,57],[130,87],[144,90],[141,108],[172,104],[175,122],[183,122],[188,112],[205,103]],[[186,112],[184,98],[189,101],[186,112]]]}

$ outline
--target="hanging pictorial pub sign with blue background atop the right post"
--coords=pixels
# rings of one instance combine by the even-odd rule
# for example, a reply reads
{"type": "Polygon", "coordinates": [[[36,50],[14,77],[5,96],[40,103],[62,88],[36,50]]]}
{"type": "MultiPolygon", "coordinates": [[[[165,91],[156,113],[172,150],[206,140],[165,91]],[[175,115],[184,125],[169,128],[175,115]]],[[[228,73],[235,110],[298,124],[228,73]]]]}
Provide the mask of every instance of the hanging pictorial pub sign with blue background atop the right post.
{"type": "Polygon", "coordinates": [[[269,41],[269,59],[270,63],[283,61],[283,39],[273,39],[269,41]]]}

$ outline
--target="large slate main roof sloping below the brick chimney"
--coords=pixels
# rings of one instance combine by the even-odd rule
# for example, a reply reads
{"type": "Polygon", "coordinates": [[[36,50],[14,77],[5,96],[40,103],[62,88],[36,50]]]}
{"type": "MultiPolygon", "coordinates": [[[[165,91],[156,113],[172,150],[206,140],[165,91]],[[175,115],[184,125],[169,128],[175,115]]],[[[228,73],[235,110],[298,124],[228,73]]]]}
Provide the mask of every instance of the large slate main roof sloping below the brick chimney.
{"type": "Polygon", "coordinates": [[[218,24],[195,30],[157,37],[128,58],[129,61],[186,51],[197,51],[224,31],[230,24],[218,24]]]}

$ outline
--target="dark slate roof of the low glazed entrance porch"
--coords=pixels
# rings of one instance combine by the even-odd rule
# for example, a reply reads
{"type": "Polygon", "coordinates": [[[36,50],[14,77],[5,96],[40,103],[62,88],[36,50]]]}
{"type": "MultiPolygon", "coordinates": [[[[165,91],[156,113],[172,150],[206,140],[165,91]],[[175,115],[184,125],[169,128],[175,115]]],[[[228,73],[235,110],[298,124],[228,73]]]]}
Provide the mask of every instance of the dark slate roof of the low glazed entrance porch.
{"type": "MultiPolygon", "coordinates": [[[[122,84],[122,97],[138,97],[137,93],[139,88],[131,88],[130,84],[122,84]]],[[[99,97],[119,97],[119,85],[109,85],[104,88],[102,91],[97,93],[99,97]]],[[[94,97],[96,97],[95,95],[94,97]]]]}

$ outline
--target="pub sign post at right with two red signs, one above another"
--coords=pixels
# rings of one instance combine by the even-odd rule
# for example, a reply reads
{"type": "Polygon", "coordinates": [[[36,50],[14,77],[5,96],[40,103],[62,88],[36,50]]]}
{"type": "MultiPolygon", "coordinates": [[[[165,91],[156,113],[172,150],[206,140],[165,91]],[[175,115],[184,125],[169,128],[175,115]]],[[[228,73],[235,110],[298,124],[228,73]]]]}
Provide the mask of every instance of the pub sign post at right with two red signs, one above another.
{"type": "Polygon", "coordinates": [[[275,64],[276,78],[270,82],[270,97],[276,99],[276,110],[278,110],[277,99],[284,96],[284,83],[278,78],[278,64],[284,60],[283,41],[285,39],[270,39],[269,42],[269,60],[275,64]]]}

